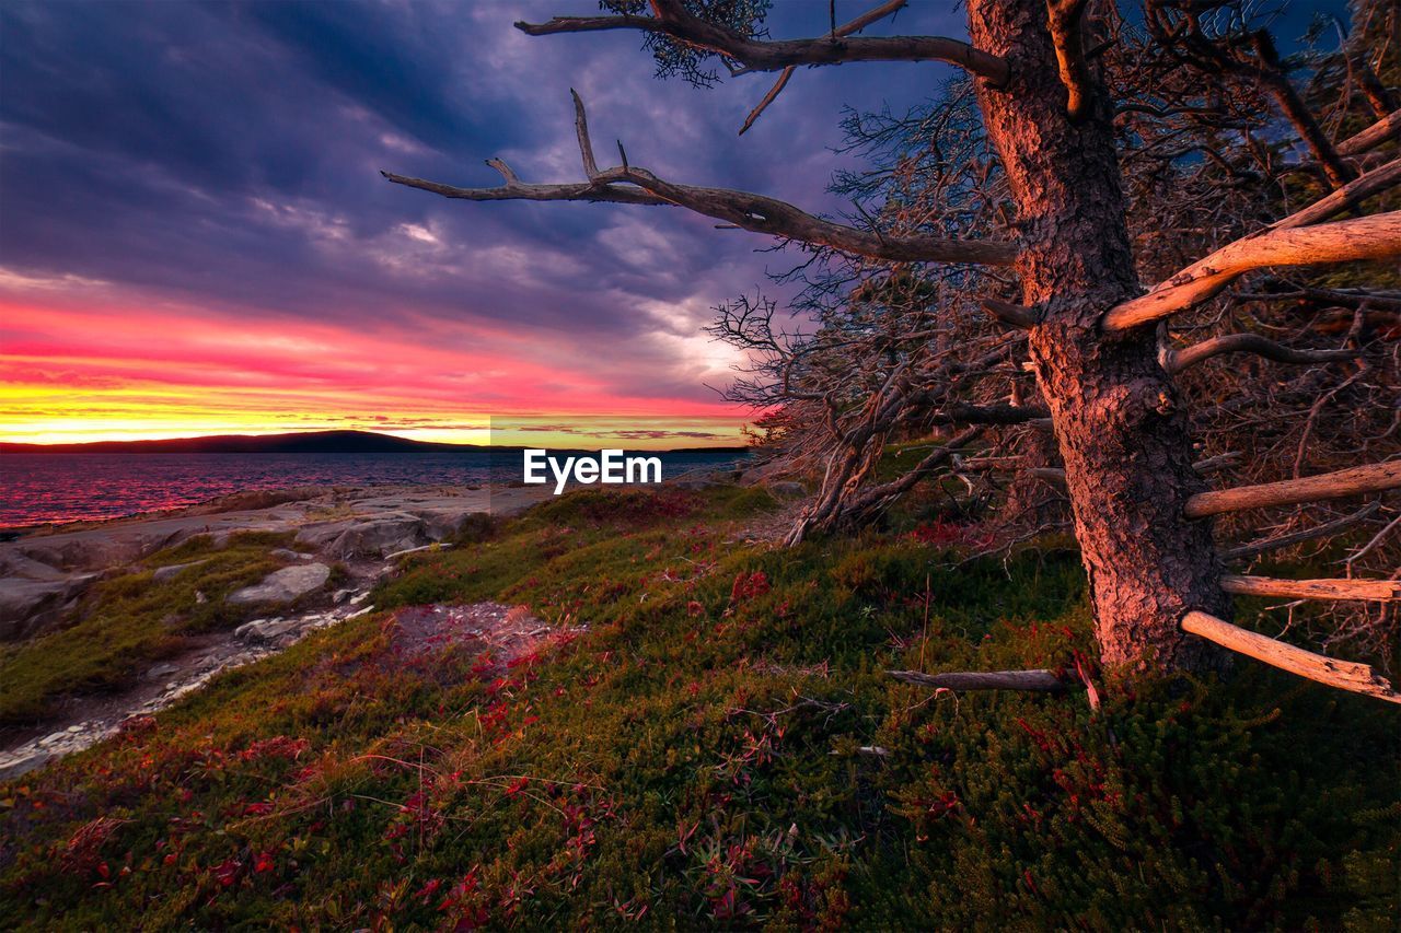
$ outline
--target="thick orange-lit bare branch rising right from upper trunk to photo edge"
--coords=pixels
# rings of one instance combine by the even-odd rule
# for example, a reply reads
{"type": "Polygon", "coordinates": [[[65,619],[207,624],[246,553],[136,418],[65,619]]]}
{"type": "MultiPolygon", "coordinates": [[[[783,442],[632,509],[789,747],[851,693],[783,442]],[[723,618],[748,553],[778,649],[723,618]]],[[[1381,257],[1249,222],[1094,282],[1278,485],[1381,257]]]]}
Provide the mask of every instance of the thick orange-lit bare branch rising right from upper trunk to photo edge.
{"type": "Polygon", "coordinates": [[[1227,244],[1147,294],[1111,308],[1108,331],[1125,331],[1199,304],[1240,275],[1264,266],[1386,259],[1401,255],[1401,212],[1339,220],[1302,230],[1279,228],[1227,244]]]}

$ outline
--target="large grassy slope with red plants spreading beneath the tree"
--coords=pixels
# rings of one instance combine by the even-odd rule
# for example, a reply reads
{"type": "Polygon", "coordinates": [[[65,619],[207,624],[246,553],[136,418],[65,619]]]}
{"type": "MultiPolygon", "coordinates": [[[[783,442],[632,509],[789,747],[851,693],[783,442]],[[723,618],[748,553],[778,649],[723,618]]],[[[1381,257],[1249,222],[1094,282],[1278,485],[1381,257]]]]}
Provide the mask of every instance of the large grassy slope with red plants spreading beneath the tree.
{"type": "Polygon", "coordinates": [[[929,542],[958,534],[926,524],[737,544],[768,506],[580,492],[403,559],[387,611],[0,789],[0,913],[1391,927],[1390,709],[1248,664],[1098,678],[1097,713],[1082,692],[930,695],[884,670],[1084,663],[1075,556],[954,570],[929,542]],[[486,598],[587,628],[510,667],[396,642],[395,607],[486,598]]]}

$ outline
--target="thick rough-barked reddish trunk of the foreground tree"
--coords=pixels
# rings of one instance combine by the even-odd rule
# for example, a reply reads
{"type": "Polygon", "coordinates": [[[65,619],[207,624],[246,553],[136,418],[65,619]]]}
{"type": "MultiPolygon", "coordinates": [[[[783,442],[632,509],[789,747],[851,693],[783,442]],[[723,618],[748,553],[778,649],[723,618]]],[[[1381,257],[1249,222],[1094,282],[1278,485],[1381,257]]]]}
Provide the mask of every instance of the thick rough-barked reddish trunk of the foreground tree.
{"type": "Polygon", "coordinates": [[[979,81],[978,98],[1020,216],[1024,304],[1044,308],[1031,360],[1065,461],[1101,660],[1217,667],[1220,651],[1180,628],[1189,609],[1226,609],[1210,530],[1182,511],[1203,489],[1187,413],[1152,328],[1098,328],[1140,291],[1107,95],[1091,83],[1084,118],[1068,118],[1045,0],[969,0],[968,18],[974,45],[1009,63],[1006,87],[979,81]]]}

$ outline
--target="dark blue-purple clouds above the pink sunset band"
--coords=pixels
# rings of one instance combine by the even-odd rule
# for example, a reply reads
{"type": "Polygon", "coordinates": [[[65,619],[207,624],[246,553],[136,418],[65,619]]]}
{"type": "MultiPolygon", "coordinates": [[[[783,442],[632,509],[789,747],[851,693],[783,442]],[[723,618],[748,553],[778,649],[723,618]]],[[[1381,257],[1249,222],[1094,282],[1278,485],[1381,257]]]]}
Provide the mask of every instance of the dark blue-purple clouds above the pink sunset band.
{"type": "MultiPolygon", "coordinates": [[[[660,174],[834,209],[839,104],[905,106],[946,70],[804,71],[737,140],[769,76],[696,91],[653,80],[636,35],[511,28],[593,7],[8,3],[0,265],[249,319],[402,319],[448,345],[538,332],[544,361],[705,396],[681,339],[783,266],[762,238],[667,209],[444,202],[377,170],[489,185],[481,160],[503,154],[574,179],[573,85],[601,150],[621,137],[660,174]]],[[[773,31],[820,32],[825,13],[779,3],[773,31]]],[[[897,28],[958,25],[916,4],[897,28]]]]}

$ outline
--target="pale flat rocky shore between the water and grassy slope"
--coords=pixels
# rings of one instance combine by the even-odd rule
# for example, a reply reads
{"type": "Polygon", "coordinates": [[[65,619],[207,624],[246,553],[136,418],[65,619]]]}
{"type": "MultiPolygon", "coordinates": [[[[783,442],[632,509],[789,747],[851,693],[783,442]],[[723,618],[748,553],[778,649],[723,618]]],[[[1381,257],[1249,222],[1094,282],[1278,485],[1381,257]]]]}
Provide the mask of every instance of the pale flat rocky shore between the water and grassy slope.
{"type": "MultiPolygon", "coordinates": [[[[293,542],[269,551],[286,566],[223,597],[255,608],[259,618],[189,637],[179,653],[150,664],[127,689],[74,696],[60,716],[11,730],[0,741],[0,779],[102,741],[220,671],[373,611],[370,590],[394,570],[396,558],[443,546],[475,516],[520,511],[545,495],[541,488],[450,486],[249,493],[175,513],[29,530],[0,542],[0,650],[63,629],[83,611],[94,584],[140,570],[151,555],[193,538],[207,537],[213,548],[240,532],[291,535],[293,542]]],[[[202,563],[156,567],[150,584],[167,584],[202,563]]]]}

